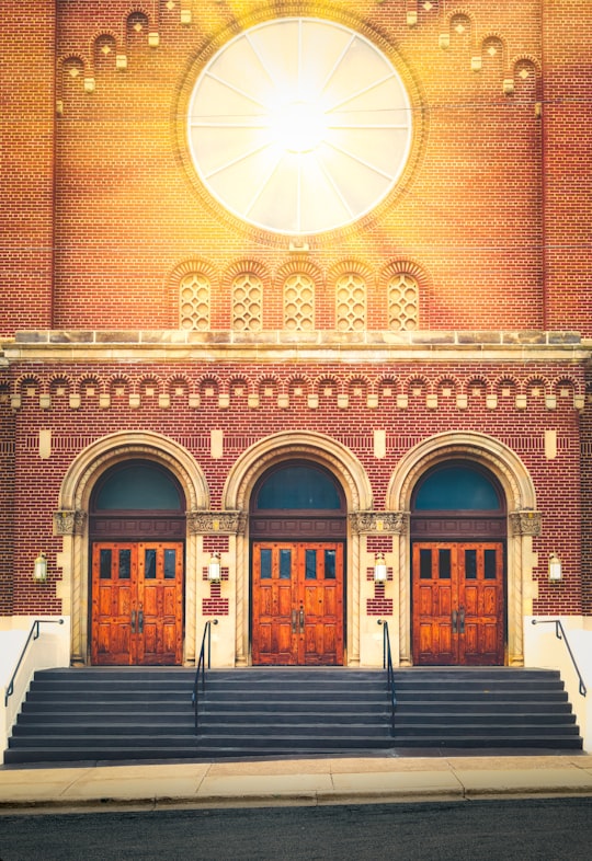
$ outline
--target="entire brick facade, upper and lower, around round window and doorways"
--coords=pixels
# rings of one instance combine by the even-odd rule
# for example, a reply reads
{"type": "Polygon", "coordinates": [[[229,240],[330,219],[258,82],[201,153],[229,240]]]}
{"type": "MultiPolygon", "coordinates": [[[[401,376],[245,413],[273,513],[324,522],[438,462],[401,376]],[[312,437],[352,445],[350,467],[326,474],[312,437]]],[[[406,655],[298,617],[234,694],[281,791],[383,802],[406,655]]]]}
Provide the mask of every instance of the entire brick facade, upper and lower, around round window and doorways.
{"type": "MultiPolygon", "coordinates": [[[[532,612],[590,615],[591,38],[592,10],[576,0],[39,0],[34,15],[8,0],[0,613],[64,611],[54,516],[72,463],[110,434],[182,446],[213,512],[251,446],[322,435],[360,462],[380,512],[401,459],[458,432],[506,447],[532,481],[532,612]],[[391,59],[413,142],[376,211],[292,241],[208,196],[185,126],[216,50],[300,15],[351,27],[391,59]],[[195,296],[208,291],[198,328],[183,322],[193,274],[195,296]],[[399,275],[410,311],[389,299],[399,275]],[[291,276],[314,290],[309,331],[286,325],[291,276]],[[348,306],[360,321],[350,330],[343,278],[365,297],[348,306]],[[409,313],[400,328],[397,313],[409,313]],[[31,579],[41,549],[43,589],[31,579]]],[[[204,553],[231,547],[204,535],[204,553]]],[[[392,538],[367,535],[362,551],[392,553],[392,538]]],[[[394,563],[362,601],[368,616],[397,606],[394,563]]],[[[203,584],[204,615],[229,611],[224,570],[221,585],[203,584]]]]}

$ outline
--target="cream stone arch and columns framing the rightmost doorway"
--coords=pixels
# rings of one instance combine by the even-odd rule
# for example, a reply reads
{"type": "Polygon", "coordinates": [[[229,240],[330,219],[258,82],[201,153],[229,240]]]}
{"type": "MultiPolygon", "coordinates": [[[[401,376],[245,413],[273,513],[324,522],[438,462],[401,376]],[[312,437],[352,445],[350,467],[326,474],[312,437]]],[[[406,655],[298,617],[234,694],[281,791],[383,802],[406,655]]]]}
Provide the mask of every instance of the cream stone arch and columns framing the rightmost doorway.
{"type": "MultiPolygon", "coordinates": [[[[510,666],[524,664],[524,596],[535,565],[532,539],[540,532],[540,515],[528,471],[508,446],[487,434],[448,432],[437,434],[412,448],[399,461],[386,495],[387,509],[403,513],[409,523],[411,494],[423,473],[447,460],[479,463],[499,481],[508,506],[508,655],[510,666]]],[[[411,596],[409,535],[396,536],[399,596],[399,661],[412,664],[410,627],[411,596]]]]}

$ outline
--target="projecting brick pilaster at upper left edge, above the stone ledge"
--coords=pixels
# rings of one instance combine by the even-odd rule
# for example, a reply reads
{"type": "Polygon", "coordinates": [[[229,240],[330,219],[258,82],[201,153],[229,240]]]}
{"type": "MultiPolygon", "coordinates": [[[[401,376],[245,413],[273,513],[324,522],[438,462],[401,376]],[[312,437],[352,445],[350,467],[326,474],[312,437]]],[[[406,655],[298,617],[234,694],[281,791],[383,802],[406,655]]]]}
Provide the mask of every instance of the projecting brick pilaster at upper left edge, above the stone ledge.
{"type": "Polygon", "coordinates": [[[52,324],[55,3],[2,3],[0,336],[52,324]]]}

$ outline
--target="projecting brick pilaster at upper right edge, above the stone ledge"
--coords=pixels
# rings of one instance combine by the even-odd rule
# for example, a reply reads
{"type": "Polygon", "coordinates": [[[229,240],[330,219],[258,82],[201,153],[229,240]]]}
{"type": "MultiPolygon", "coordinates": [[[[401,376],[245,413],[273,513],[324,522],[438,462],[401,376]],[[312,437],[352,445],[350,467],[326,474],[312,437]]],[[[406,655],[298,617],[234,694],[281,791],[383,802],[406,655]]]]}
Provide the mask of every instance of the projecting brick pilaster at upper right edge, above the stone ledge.
{"type": "Polygon", "coordinates": [[[592,325],[592,7],[544,3],[544,202],[546,325],[592,325]]]}

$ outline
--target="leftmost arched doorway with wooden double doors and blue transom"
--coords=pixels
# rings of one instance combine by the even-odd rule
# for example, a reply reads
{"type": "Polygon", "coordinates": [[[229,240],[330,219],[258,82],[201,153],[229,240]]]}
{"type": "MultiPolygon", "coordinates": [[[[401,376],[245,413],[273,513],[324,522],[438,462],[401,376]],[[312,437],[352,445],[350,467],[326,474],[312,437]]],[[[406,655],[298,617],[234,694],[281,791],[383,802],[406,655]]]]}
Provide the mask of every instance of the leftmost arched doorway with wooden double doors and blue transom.
{"type": "Polygon", "coordinates": [[[149,460],[109,469],[90,500],[91,662],[180,664],[185,497],[149,460]]]}

